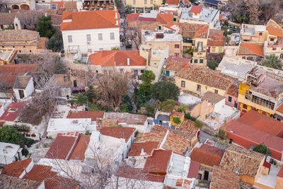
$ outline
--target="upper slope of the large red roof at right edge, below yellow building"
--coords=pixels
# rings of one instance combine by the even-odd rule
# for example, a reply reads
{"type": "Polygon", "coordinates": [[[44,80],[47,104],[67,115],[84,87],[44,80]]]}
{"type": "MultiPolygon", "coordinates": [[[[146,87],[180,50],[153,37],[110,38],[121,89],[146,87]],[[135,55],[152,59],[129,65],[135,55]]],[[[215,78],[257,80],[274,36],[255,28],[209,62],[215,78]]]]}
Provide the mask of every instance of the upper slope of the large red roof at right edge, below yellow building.
{"type": "Polygon", "coordinates": [[[250,110],[237,120],[257,130],[267,132],[277,137],[283,137],[283,122],[268,117],[255,110],[250,110]]]}

